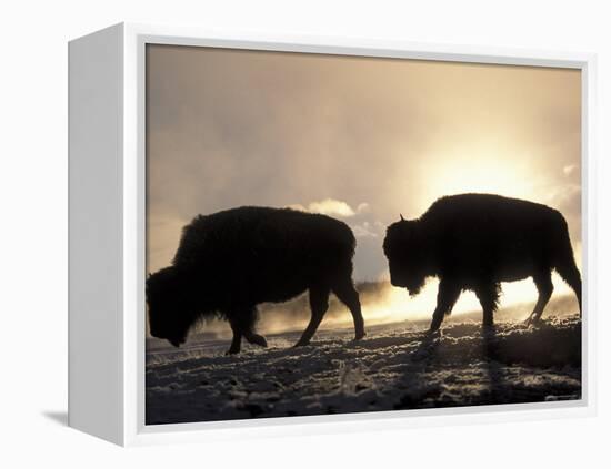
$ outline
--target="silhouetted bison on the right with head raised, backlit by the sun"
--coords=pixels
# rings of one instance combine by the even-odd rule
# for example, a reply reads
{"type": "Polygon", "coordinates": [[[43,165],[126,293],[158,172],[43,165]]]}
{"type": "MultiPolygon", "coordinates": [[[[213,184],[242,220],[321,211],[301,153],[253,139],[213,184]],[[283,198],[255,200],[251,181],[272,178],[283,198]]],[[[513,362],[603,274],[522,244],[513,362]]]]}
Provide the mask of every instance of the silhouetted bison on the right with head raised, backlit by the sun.
{"type": "Polygon", "coordinates": [[[490,194],[438,200],[418,220],[387,230],[384,254],[392,285],[417,295],[427,277],[439,277],[431,330],[437,330],[464,289],[475,293],[483,324],[493,324],[501,282],[532,277],[539,299],[527,324],[540,319],[555,269],[571,286],[581,310],[581,276],[567,222],[545,205],[490,194]]]}

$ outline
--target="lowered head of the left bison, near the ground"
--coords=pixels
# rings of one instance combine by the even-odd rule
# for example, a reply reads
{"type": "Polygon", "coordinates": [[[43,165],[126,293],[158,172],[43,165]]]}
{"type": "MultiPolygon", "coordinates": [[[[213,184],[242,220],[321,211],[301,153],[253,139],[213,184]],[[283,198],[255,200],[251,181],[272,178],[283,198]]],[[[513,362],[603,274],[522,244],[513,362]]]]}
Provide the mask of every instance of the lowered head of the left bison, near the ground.
{"type": "Polygon", "coordinates": [[[149,276],[147,304],[151,335],[168,339],[174,347],[183,344],[194,318],[186,284],[176,267],[166,267],[149,276]]]}

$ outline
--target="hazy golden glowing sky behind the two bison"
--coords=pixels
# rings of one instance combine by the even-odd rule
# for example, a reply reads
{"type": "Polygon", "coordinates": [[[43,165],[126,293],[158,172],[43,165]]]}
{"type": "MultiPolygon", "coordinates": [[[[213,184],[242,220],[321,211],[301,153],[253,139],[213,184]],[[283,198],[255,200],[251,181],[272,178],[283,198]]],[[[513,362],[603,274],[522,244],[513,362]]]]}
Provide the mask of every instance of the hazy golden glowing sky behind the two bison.
{"type": "Polygon", "coordinates": [[[150,272],[194,215],[269,205],[345,221],[379,279],[385,226],[461,192],[559,208],[580,262],[578,70],[149,45],[147,79],[150,272]]]}

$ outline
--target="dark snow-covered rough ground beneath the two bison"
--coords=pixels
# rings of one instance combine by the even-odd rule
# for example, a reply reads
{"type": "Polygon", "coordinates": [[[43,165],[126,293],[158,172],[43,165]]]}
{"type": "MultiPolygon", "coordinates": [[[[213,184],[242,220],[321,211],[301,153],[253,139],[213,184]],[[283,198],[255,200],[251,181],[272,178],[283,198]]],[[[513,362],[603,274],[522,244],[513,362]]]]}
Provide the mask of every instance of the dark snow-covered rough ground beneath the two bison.
{"type": "Polygon", "coordinates": [[[237,356],[206,335],[180,349],[148,339],[147,424],[579,399],[581,320],[552,314],[530,328],[501,315],[493,330],[462,315],[433,335],[428,322],[369,326],[357,343],[319,330],[292,348],[299,330],[237,356]]]}

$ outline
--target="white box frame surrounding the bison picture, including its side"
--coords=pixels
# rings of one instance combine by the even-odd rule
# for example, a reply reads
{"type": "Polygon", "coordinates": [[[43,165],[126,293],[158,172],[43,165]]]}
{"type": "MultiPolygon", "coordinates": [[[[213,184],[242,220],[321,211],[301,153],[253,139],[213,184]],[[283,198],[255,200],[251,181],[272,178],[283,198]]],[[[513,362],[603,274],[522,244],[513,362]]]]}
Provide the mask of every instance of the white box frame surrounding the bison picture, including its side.
{"type": "Polygon", "coordinates": [[[118,445],[570,418],[595,412],[595,57],[122,23],[69,44],[69,425],[118,445]],[[573,68],[582,71],[582,399],[144,425],[147,43],[573,68]]]}

